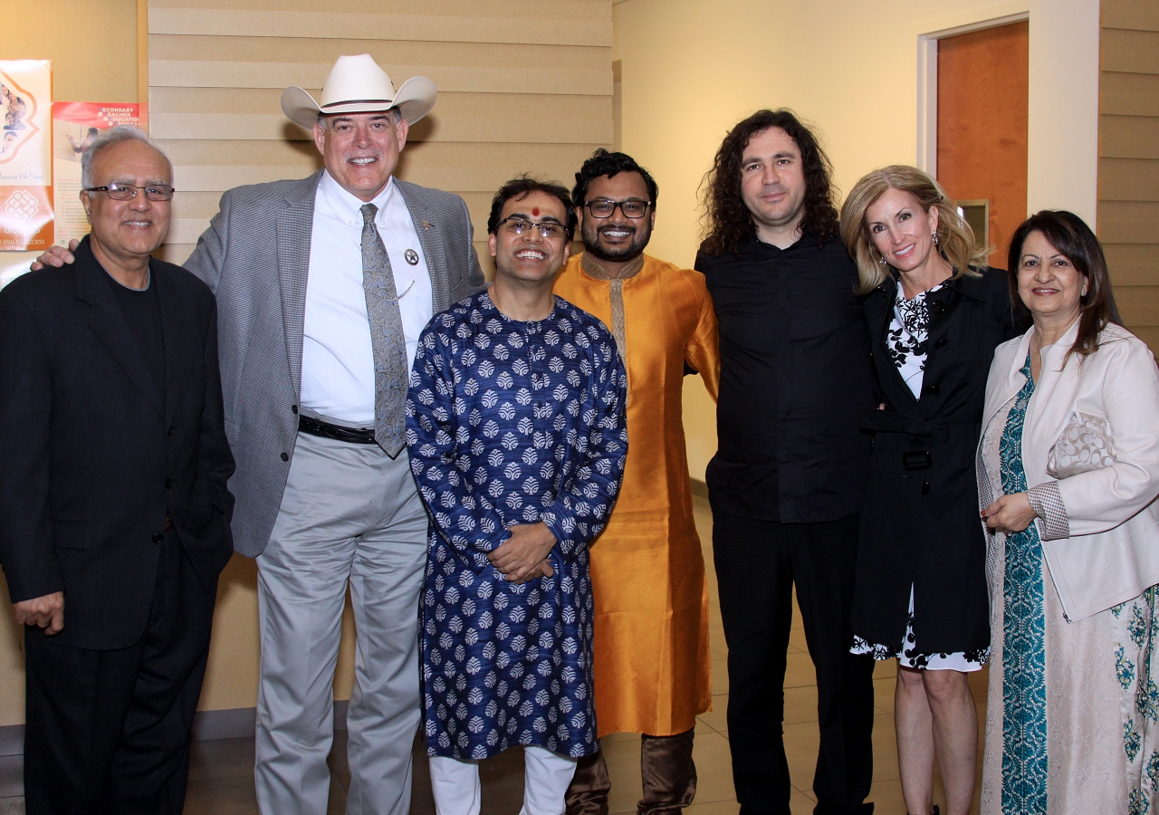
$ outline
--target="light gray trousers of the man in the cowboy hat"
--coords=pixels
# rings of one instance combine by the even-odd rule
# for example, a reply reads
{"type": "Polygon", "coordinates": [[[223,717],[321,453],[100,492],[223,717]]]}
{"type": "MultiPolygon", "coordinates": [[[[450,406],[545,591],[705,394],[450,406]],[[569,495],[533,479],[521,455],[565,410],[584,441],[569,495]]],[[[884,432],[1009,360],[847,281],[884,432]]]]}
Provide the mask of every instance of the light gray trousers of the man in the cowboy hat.
{"type": "Polygon", "coordinates": [[[348,585],[357,639],[347,815],[409,813],[425,563],[427,510],[406,451],[392,459],[378,445],[298,434],[282,510],[257,558],[262,815],[327,813],[348,585]]]}

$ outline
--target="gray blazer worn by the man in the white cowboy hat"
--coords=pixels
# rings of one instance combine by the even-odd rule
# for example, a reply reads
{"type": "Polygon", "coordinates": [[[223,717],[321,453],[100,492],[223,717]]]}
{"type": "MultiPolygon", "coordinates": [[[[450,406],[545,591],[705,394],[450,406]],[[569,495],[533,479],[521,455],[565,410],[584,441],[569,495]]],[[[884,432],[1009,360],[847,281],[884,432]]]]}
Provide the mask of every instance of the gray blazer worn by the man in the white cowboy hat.
{"type": "MultiPolygon", "coordinates": [[[[299,181],[238,187],[221,196],[185,268],[218,301],[225,429],[238,470],[234,548],[256,558],[282,507],[298,434],[306,277],[321,170],[299,181]]],[[[431,275],[435,313],[483,286],[467,205],[395,179],[431,275]]]]}

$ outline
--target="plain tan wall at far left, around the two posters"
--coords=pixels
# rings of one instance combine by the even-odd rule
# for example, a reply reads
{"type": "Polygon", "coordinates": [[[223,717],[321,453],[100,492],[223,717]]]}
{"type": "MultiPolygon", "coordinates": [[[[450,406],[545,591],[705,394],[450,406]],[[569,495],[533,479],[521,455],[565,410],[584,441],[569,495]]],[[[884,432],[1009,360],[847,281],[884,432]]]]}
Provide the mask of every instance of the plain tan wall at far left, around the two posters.
{"type": "MultiPolygon", "coordinates": [[[[0,59],[51,59],[63,102],[137,102],[138,0],[7,2],[0,59]],[[19,32],[19,34],[17,34],[19,32]],[[114,58],[119,54],[119,59],[114,58]]],[[[25,253],[0,253],[0,265],[25,253]]],[[[25,261],[27,262],[27,261],[25,261]]],[[[23,632],[0,584],[0,727],[24,721],[23,632]]]]}

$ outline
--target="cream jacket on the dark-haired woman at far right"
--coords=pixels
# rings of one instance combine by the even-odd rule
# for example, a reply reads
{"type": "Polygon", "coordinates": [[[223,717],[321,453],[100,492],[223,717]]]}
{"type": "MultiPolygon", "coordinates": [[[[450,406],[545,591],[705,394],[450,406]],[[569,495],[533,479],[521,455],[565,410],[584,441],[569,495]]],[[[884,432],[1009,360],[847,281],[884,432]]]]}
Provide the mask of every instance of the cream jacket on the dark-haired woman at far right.
{"type": "MultiPolygon", "coordinates": [[[[994,349],[983,438],[994,414],[1026,383],[1020,371],[1033,335],[1030,328],[994,349]]],[[[1034,521],[1063,611],[1072,621],[1159,583],[1159,370],[1143,341],[1115,325],[1103,329],[1099,350],[1086,358],[1072,354],[1064,364],[1077,335],[1078,321],[1042,349],[1042,372],[1022,431],[1027,486],[1056,483],[1069,524],[1070,537],[1051,540],[1045,519],[1034,521]],[[1107,421],[1115,463],[1055,481],[1047,474],[1047,459],[1074,413],[1107,421]]],[[[981,460],[978,481],[983,507],[1001,494],[1000,485],[989,485],[981,460]]]]}

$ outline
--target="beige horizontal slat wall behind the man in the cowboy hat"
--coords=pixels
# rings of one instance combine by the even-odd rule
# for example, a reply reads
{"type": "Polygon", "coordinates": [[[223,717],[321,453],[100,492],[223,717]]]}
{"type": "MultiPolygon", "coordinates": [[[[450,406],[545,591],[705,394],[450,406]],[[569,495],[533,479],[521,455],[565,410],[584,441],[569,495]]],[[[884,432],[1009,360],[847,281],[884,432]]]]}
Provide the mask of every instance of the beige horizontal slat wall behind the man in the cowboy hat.
{"type": "Polygon", "coordinates": [[[533,173],[570,187],[612,144],[611,0],[534,13],[493,0],[148,0],[151,134],[180,190],[162,256],[189,256],[226,189],[321,167],[278,101],[289,85],[316,97],[343,53],[372,54],[395,87],[414,75],[438,87],[398,175],[466,199],[484,267],[504,181],[533,173]]]}

